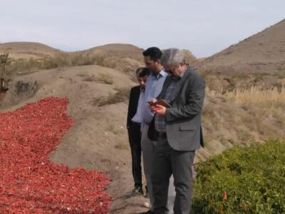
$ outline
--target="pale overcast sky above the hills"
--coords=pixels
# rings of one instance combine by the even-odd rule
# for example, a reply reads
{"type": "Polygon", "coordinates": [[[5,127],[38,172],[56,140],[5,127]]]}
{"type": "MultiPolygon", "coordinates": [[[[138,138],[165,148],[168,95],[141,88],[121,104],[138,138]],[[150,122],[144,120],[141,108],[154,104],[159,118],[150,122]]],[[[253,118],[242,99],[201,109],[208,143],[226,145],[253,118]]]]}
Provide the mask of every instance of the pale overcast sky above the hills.
{"type": "Polygon", "coordinates": [[[63,51],[110,43],[211,56],[285,19],[285,0],[0,0],[0,43],[63,51]]]}

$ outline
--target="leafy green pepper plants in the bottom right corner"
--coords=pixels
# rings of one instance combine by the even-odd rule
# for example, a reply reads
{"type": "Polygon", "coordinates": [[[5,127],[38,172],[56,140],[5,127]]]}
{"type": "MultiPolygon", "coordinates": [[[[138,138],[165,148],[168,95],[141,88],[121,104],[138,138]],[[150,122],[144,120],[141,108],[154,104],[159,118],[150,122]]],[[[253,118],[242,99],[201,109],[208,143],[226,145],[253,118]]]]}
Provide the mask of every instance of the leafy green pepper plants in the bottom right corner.
{"type": "Polygon", "coordinates": [[[285,141],[231,148],[195,168],[193,213],[285,213],[285,141]]]}

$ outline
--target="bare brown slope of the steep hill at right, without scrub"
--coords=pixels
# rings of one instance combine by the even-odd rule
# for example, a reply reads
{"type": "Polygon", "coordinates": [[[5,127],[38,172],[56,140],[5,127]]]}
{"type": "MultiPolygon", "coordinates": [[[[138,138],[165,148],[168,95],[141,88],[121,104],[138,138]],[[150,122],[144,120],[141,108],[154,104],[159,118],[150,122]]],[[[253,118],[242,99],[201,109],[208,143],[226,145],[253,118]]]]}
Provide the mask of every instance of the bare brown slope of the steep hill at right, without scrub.
{"type": "Polygon", "coordinates": [[[285,19],[206,58],[200,66],[222,73],[285,71],[285,19]]]}

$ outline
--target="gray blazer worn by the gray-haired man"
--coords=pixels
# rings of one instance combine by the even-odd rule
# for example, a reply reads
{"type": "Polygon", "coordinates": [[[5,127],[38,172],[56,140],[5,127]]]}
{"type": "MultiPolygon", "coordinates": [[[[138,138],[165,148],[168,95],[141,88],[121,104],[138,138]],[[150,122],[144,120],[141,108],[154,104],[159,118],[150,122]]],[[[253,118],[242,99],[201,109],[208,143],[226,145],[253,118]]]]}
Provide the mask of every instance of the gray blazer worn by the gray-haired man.
{"type": "MultiPolygon", "coordinates": [[[[170,81],[168,76],[157,99],[164,98],[170,81]]],[[[188,66],[165,115],[167,141],[177,151],[194,151],[204,146],[201,126],[204,89],[202,76],[188,66]]]]}

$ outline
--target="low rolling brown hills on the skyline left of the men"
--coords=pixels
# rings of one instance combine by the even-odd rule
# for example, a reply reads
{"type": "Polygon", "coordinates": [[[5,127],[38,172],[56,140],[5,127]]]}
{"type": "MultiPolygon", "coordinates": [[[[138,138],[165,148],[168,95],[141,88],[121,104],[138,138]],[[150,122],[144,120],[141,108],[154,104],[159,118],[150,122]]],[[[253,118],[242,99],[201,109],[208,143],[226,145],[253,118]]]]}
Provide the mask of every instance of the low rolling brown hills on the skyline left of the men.
{"type": "Polygon", "coordinates": [[[76,52],[63,52],[32,42],[0,44],[0,54],[9,53],[5,76],[33,73],[41,69],[98,65],[122,71],[133,77],[144,66],[142,49],[130,44],[108,44],[76,52]]]}

